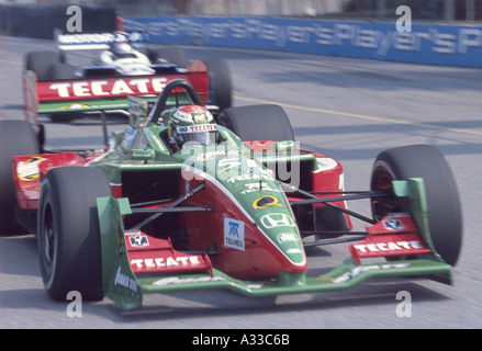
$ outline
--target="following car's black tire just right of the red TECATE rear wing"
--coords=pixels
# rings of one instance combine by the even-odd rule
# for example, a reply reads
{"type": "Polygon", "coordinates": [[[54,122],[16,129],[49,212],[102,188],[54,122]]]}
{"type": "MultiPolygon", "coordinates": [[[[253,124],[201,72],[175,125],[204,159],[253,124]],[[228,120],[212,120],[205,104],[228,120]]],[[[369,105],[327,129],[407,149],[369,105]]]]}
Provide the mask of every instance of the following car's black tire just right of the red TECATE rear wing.
{"type": "Polygon", "coordinates": [[[225,110],[233,104],[233,84],[231,81],[229,67],[222,59],[205,60],[210,80],[210,103],[220,110],[225,110]]]}

